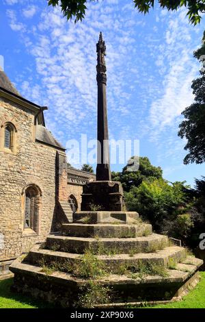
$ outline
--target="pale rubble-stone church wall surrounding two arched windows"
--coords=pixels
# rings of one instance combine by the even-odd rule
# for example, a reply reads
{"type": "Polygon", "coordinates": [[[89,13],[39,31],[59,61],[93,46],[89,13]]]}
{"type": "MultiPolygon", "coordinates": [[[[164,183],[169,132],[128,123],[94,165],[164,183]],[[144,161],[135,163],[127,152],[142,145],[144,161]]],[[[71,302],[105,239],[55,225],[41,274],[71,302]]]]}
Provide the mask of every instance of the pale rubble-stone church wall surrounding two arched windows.
{"type": "MultiPolygon", "coordinates": [[[[0,137],[5,122],[16,127],[16,153],[0,148],[0,261],[16,258],[51,232],[55,211],[57,150],[34,139],[35,112],[0,98],[0,137]],[[42,193],[40,227],[37,235],[24,229],[23,192],[35,184],[42,193]]],[[[61,152],[64,153],[64,152],[61,152]]]]}

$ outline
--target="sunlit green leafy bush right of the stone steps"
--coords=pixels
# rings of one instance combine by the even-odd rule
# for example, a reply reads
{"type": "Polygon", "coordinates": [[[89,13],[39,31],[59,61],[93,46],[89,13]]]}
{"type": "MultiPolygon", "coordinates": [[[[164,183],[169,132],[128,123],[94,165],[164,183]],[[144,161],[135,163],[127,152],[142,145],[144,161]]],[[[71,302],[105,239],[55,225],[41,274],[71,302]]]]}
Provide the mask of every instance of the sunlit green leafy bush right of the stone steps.
{"type": "Polygon", "coordinates": [[[139,212],[156,232],[185,239],[193,227],[186,188],[184,182],[171,184],[162,178],[143,181],[125,193],[126,208],[139,212]]]}

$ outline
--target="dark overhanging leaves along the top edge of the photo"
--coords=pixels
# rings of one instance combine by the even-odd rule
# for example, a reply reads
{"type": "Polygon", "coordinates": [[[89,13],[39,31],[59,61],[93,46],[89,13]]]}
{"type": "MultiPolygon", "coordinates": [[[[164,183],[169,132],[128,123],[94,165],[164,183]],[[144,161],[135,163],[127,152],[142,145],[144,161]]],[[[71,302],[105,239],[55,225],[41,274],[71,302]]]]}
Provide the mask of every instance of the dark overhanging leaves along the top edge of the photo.
{"type": "MultiPolygon", "coordinates": [[[[98,0],[47,0],[49,5],[53,7],[60,6],[61,11],[67,19],[75,18],[75,22],[82,21],[85,18],[85,10],[87,3],[98,0]]],[[[133,0],[135,8],[139,12],[146,14],[150,8],[154,8],[154,3],[158,2],[161,8],[167,10],[178,10],[180,7],[187,8],[187,16],[189,21],[196,25],[200,23],[202,12],[205,10],[205,0],[133,0]]]]}

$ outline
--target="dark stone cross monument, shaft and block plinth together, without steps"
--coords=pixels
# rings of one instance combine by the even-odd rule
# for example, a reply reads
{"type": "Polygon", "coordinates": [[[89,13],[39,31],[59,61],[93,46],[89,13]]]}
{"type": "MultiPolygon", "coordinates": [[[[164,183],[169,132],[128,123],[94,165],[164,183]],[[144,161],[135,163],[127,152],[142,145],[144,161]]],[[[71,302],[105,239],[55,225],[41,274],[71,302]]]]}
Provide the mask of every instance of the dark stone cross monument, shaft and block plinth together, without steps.
{"type": "Polygon", "coordinates": [[[123,190],[120,182],[111,181],[109,166],[109,135],[107,124],[107,75],[105,65],[106,47],[100,32],[97,43],[98,64],[98,162],[96,181],[83,186],[81,211],[121,211],[123,190]]]}

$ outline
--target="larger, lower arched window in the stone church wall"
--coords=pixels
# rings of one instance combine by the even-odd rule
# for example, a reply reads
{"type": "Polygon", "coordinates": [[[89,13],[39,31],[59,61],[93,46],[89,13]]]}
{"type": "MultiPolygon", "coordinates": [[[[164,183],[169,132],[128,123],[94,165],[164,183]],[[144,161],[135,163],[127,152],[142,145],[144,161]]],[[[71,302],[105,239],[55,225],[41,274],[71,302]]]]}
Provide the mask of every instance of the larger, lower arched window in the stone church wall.
{"type": "Polygon", "coordinates": [[[25,190],[25,229],[30,228],[38,233],[40,212],[40,191],[36,186],[29,186],[25,190]]]}

